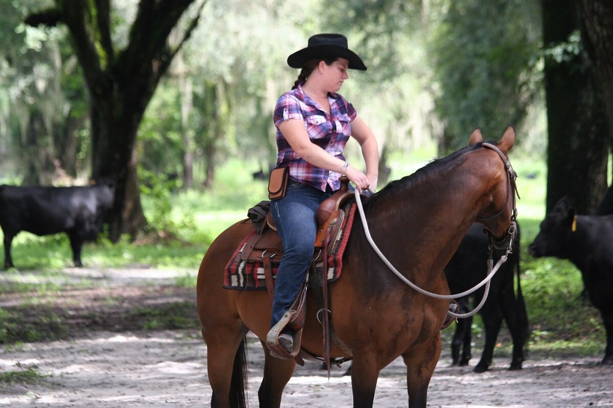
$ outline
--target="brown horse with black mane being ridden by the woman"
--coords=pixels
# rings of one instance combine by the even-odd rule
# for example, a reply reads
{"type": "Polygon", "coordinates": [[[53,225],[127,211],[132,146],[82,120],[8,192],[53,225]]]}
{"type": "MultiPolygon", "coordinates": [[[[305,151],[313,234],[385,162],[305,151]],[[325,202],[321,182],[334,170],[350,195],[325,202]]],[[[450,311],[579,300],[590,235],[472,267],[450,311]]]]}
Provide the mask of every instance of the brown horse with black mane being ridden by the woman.
{"type": "MultiPolygon", "coordinates": [[[[499,144],[486,147],[477,128],[470,146],[391,182],[364,202],[371,237],[403,276],[427,291],[449,294],[443,268],[473,221],[493,237],[505,237],[515,210],[514,173],[506,160],[514,142],[515,130],[509,126],[499,144]]],[[[449,302],[419,294],[392,274],[371,249],[359,218],[343,255],[343,272],[329,286],[332,327],[353,358],[353,406],[372,407],[379,371],[402,356],[409,407],[425,407],[449,302]]],[[[267,292],[222,287],[226,263],[252,229],[251,223],[242,222],[222,232],[198,273],[198,313],[214,408],[245,406],[249,331],[261,340],[265,352],[260,407],[280,406],[296,364],[271,357],[265,347],[271,310],[267,292]]],[[[316,309],[309,293],[302,348],[322,355],[316,309]]],[[[330,356],[348,354],[333,344],[330,356]]]]}

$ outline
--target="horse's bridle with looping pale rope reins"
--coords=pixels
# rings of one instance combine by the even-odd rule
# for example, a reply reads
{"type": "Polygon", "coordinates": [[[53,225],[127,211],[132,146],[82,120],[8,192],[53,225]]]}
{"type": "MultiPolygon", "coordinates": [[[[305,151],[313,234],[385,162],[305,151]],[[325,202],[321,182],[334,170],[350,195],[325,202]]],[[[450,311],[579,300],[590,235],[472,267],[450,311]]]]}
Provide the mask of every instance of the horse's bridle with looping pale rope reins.
{"type": "MultiPolygon", "coordinates": [[[[479,310],[481,310],[482,306],[485,304],[485,300],[487,300],[487,295],[489,294],[489,291],[490,291],[491,280],[492,280],[493,276],[495,275],[495,273],[498,272],[498,269],[500,269],[500,266],[502,264],[504,264],[504,262],[506,262],[506,260],[508,259],[509,254],[512,252],[512,250],[513,250],[513,241],[514,241],[514,239],[516,237],[516,234],[517,234],[516,195],[517,195],[517,198],[519,198],[519,193],[517,192],[517,185],[516,185],[517,173],[511,167],[511,162],[506,157],[506,155],[504,155],[502,150],[498,149],[498,146],[495,146],[494,144],[491,144],[491,143],[482,143],[482,146],[489,147],[490,149],[492,149],[495,152],[497,152],[498,155],[500,155],[500,157],[502,158],[502,160],[504,162],[504,168],[506,169],[506,174],[508,176],[507,178],[508,178],[508,181],[509,181],[509,188],[507,190],[507,202],[509,202],[509,196],[512,195],[513,210],[512,210],[512,213],[511,213],[511,226],[509,226],[509,229],[506,232],[506,234],[503,237],[503,239],[497,240],[497,239],[495,239],[492,236],[492,234],[490,234],[489,232],[486,232],[490,236],[490,242],[491,242],[490,251],[489,251],[489,259],[487,260],[487,276],[485,276],[485,279],[482,280],[480,283],[476,284],[476,286],[472,287],[471,289],[468,289],[468,291],[464,291],[462,293],[454,294],[454,295],[435,294],[435,293],[432,293],[432,292],[428,292],[425,289],[422,289],[421,287],[417,286],[416,284],[414,284],[413,282],[408,280],[404,275],[402,275],[402,273],[398,272],[398,270],[394,267],[394,265],[392,265],[391,262],[389,262],[389,260],[381,252],[381,250],[379,250],[379,248],[377,247],[375,241],[370,236],[370,231],[368,229],[368,223],[366,221],[366,215],[364,214],[364,207],[362,207],[362,199],[360,198],[360,193],[357,190],[357,188],[356,188],[356,190],[354,190],[354,194],[356,196],[357,209],[358,209],[358,212],[360,213],[360,219],[362,220],[362,226],[364,226],[364,234],[366,236],[366,239],[368,240],[368,243],[370,243],[370,246],[373,248],[375,253],[379,256],[379,258],[381,258],[381,261],[383,261],[384,264],[386,264],[387,267],[392,272],[394,272],[394,274],[396,276],[398,276],[398,278],[400,280],[402,280],[404,283],[406,283],[409,287],[411,287],[412,289],[414,289],[415,291],[417,291],[417,292],[419,292],[419,293],[421,293],[423,295],[427,295],[427,296],[433,297],[435,299],[455,299],[457,297],[463,297],[463,296],[466,296],[466,295],[470,295],[474,291],[477,291],[481,286],[485,285],[483,298],[481,299],[481,302],[479,303],[479,305],[476,308],[474,308],[473,311],[471,311],[469,313],[453,313],[451,311],[447,312],[450,316],[456,317],[456,318],[457,317],[460,317],[460,318],[462,318],[462,317],[470,317],[470,316],[473,316],[474,314],[476,314],[479,310]],[[493,259],[492,259],[492,252],[493,251],[492,251],[492,247],[496,247],[498,249],[498,248],[500,248],[501,245],[506,246],[506,253],[503,256],[500,257],[500,259],[498,260],[498,262],[495,265],[495,267],[493,267],[492,266],[493,265],[493,259]]],[[[503,209],[501,209],[495,215],[492,215],[492,217],[478,218],[478,219],[479,220],[490,220],[492,218],[498,217],[498,215],[503,213],[505,209],[506,209],[506,206],[503,207],[503,209]]]]}

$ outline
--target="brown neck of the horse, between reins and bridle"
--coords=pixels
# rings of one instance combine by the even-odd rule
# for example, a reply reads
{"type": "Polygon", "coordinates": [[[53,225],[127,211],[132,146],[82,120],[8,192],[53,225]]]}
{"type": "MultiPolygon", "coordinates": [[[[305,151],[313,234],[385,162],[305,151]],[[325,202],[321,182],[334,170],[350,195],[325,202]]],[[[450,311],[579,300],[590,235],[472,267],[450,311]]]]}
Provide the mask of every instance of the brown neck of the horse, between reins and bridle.
{"type": "Polygon", "coordinates": [[[441,272],[487,205],[487,172],[457,160],[405,177],[384,196],[381,191],[367,215],[373,239],[388,258],[405,261],[407,275],[441,272]]]}

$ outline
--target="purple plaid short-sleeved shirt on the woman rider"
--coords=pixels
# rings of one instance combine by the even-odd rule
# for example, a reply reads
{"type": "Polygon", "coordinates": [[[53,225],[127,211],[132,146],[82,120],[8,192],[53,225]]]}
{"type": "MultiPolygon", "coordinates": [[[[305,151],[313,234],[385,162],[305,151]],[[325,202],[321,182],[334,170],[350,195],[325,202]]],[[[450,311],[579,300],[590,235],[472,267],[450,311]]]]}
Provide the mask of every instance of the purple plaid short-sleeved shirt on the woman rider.
{"type": "Polygon", "coordinates": [[[302,83],[296,89],[281,95],[276,102],[274,121],[276,126],[276,167],[289,166],[289,177],[302,184],[326,191],[330,185],[333,191],[340,188],[340,173],[327,171],[311,165],[300,157],[289,143],[279,125],[288,119],[305,122],[311,142],[326,150],[334,157],[345,160],[343,149],[351,135],[350,122],[356,119],[356,109],[341,95],[328,94],[330,113],[322,110],[318,103],[305,95],[302,83]]]}

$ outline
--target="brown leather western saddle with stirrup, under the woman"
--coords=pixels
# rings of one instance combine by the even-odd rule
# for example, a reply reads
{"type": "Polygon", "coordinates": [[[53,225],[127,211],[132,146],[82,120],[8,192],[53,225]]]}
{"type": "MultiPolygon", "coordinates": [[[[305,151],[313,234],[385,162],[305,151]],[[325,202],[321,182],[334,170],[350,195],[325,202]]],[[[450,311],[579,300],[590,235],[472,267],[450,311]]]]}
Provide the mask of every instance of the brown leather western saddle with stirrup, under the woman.
{"type": "MultiPolygon", "coordinates": [[[[341,226],[343,225],[343,218],[345,212],[343,207],[351,199],[353,193],[349,191],[349,179],[345,176],[341,177],[341,187],[332,196],[322,201],[319,205],[316,218],[318,221],[318,233],[315,238],[315,244],[313,248],[313,262],[322,261],[324,264],[323,270],[327,270],[327,254],[331,253],[335,245],[339,242],[341,233],[341,226]]],[[[250,239],[245,242],[242,248],[240,257],[246,262],[262,262],[264,265],[264,276],[266,282],[266,288],[268,291],[268,297],[272,304],[275,295],[275,283],[273,280],[273,264],[278,264],[283,257],[283,243],[281,238],[276,232],[275,223],[270,211],[265,215],[265,221],[262,223],[262,228],[259,234],[254,234],[250,239]]],[[[312,269],[312,268],[311,268],[312,269]]],[[[322,277],[321,280],[317,279],[323,287],[323,296],[318,290],[314,290],[318,302],[321,303],[322,310],[328,310],[327,308],[327,280],[322,277]]],[[[317,283],[317,282],[314,282],[317,283]]],[[[311,283],[312,285],[313,283],[311,283]]],[[[319,287],[319,284],[317,285],[319,287]]],[[[304,362],[300,357],[300,338],[302,336],[302,327],[306,320],[306,299],[307,299],[307,287],[308,287],[308,275],[305,277],[305,281],[300,288],[299,294],[292,303],[289,310],[284,314],[281,320],[273,327],[269,336],[266,339],[268,348],[276,352],[283,358],[294,358],[300,365],[304,362]],[[294,334],[294,349],[291,352],[287,352],[278,343],[278,335],[281,333],[286,325],[289,325],[295,332],[294,334]]],[[[328,313],[324,313],[324,361],[326,361],[329,367],[329,357],[326,357],[326,351],[330,349],[330,330],[328,324],[328,313]],[[327,339],[327,341],[326,341],[327,339]]],[[[305,356],[314,357],[314,356],[305,356]]],[[[311,358],[312,359],[312,358],[311,358]]],[[[320,360],[321,361],[321,360],[320,360]]]]}

